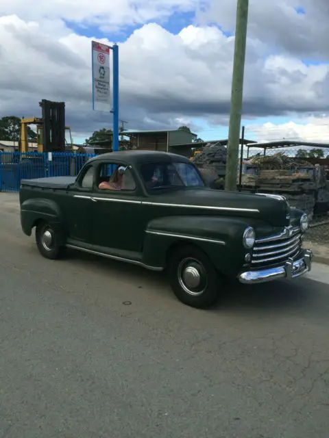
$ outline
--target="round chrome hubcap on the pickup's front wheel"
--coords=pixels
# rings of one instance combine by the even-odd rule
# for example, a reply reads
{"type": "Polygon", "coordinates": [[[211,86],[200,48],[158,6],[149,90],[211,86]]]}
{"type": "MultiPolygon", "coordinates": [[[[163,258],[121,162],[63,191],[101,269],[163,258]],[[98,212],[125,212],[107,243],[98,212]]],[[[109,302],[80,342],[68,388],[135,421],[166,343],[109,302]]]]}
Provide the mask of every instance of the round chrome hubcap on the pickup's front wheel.
{"type": "Polygon", "coordinates": [[[206,270],[199,261],[184,259],[178,266],[178,281],[187,294],[201,295],[207,286],[206,270]]]}

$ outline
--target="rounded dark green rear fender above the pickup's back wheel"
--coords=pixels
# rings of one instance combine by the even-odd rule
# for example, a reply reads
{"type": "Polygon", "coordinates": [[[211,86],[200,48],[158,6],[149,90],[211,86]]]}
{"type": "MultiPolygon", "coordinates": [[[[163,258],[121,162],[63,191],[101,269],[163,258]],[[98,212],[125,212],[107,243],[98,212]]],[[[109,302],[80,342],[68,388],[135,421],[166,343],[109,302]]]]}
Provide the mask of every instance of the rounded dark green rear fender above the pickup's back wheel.
{"type": "Polygon", "coordinates": [[[62,211],[58,204],[46,198],[29,198],[21,204],[21,227],[26,235],[32,234],[32,229],[38,220],[45,220],[54,229],[60,230],[63,224],[62,211]]]}

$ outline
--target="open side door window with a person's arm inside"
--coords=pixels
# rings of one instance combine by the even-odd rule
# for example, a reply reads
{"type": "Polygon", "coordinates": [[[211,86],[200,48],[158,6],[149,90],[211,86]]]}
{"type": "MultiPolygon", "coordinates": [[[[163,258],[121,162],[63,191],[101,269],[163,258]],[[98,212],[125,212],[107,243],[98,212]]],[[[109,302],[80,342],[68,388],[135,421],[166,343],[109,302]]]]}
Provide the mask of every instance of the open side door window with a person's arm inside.
{"type": "Polygon", "coordinates": [[[136,183],[130,168],[125,164],[106,162],[99,166],[96,184],[100,190],[134,191],[136,183]]]}

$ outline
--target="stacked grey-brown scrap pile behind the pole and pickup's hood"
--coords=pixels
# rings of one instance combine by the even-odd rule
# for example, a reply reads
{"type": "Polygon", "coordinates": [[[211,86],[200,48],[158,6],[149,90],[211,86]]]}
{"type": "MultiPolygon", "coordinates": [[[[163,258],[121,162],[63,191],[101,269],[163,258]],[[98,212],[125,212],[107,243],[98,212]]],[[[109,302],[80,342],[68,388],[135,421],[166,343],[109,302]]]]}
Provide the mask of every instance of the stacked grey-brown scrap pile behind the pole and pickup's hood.
{"type": "MultiPolygon", "coordinates": [[[[224,188],[227,161],[225,146],[220,142],[208,144],[192,161],[211,188],[224,188]]],[[[236,182],[239,184],[239,176],[236,182]]],[[[282,194],[291,206],[305,211],[310,219],[314,213],[329,209],[329,189],[324,168],[284,153],[258,154],[245,160],[241,189],[282,194]]]]}

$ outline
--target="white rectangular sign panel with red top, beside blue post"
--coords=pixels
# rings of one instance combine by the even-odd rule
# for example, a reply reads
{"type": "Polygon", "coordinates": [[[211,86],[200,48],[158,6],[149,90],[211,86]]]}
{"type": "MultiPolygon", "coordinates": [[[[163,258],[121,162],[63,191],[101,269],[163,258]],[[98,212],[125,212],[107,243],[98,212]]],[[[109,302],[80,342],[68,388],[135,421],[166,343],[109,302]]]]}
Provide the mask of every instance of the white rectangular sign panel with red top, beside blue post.
{"type": "Polygon", "coordinates": [[[93,53],[93,110],[111,112],[110,47],[91,42],[93,53]]]}

